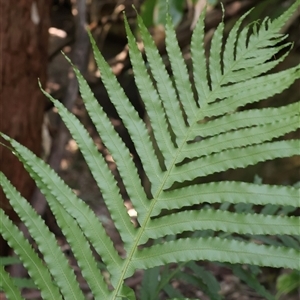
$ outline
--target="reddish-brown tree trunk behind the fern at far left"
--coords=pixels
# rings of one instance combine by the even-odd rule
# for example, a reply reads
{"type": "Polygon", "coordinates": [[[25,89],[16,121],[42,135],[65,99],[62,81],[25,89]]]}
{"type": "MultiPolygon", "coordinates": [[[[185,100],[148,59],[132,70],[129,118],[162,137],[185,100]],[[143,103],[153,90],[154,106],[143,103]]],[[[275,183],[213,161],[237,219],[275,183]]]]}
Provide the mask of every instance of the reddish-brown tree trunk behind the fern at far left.
{"type": "MultiPolygon", "coordinates": [[[[37,155],[41,154],[45,106],[37,79],[45,84],[50,2],[0,0],[0,131],[37,155]]],[[[30,199],[34,182],[11,151],[2,145],[0,170],[23,197],[30,199]]],[[[1,188],[0,207],[17,222],[1,188]]],[[[5,247],[1,244],[0,255],[3,255],[5,247]]]]}

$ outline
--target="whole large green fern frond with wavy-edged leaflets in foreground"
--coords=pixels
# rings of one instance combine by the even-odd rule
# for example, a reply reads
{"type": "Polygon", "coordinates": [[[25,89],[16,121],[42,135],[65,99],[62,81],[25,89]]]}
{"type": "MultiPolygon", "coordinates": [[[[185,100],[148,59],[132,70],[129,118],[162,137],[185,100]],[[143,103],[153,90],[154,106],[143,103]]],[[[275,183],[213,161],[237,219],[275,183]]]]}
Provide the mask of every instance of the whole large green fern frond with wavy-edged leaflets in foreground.
{"type": "MultiPolygon", "coordinates": [[[[137,212],[137,226],[131,222],[117,182],[87,130],[59,101],[43,91],[76,140],[101,190],[123,242],[122,256],[88,205],[41,159],[2,135],[46,196],[94,299],[135,299],[135,293],[124,280],[137,269],[149,270],[145,278],[157,279],[157,267],[171,262],[185,263],[195,272],[202,272],[207,279],[201,275],[203,288],[212,299],[220,298],[213,287],[216,280],[210,278],[211,286],[205,286],[211,275],[195,261],[218,261],[232,265],[233,269],[234,264],[299,268],[299,218],[288,214],[299,206],[296,187],[197,181],[216,172],[299,154],[299,140],[277,139],[298,128],[299,103],[239,110],[282,92],[300,78],[299,66],[269,72],[287,53],[278,58],[275,55],[291,46],[279,32],[298,5],[299,1],[273,21],[267,18],[260,26],[248,25],[241,29],[245,14],[233,26],[224,45],[221,22],[213,35],[208,60],[202,14],[191,42],[192,81],[170,17],[166,22],[166,49],[172,76],[138,16],[145,63],[125,18],[131,64],[147,122],[131,105],[91,37],[102,81],[130,134],[147,180],[139,177],[129,150],[75,66],[74,71],[86,110],[116,162],[137,212]],[[149,182],[149,191],[145,181],[149,182]],[[241,203],[260,205],[265,210],[259,213],[251,209],[247,212],[229,209],[230,205],[237,208],[241,203]],[[194,205],[202,208],[192,209],[194,205]],[[270,206],[281,209],[281,213],[268,214],[270,206]],[[294,243],[284,242],[282,238],[279,246],[272,245],[267,239],[270,235],[290,237],[294,243]],[[257,242],[259,236],[265,236],[264,242],[257,242]],[[291,246],[295,243],[296,246],[291,246]],[[97,265],[90,246],[100,255],[109,279],[97,265]]],[[[28,269],[42,298],[84,299],[55,236],[2,173],[1,186],[41,255],[33,250],[3,210],[0,210],[1,235],[28,269]]],[[[3,267],[0,272],[1,288],[7,298],[22,299],[15,281],[3,267]]],[[[154,284],[151,280],[144,280],[145,290],[147,284],[154,284]]],[[[141,292],[142,299],[155,299],[148,297],[145,290],[141,292]]]]}

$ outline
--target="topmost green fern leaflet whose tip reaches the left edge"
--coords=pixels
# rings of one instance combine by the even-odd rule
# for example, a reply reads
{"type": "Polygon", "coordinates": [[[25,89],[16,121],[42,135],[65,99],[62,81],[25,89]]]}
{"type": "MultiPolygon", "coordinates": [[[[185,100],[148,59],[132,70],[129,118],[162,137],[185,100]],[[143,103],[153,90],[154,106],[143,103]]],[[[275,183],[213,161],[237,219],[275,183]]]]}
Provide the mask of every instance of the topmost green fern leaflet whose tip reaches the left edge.
{"type": "MultiPolygon", "coordinates": [[[[56,199],[62,207],[74,219],[82,229],[95,250],[101,255],[104,262],[108,264],[108,269],[112,274],[117,274],[122,266],[122,260],[113,247],[111,239],[106,235],[105,229],[93,211],[89,209],[81,199],[64,184],[62,179],[31,151],[20,145],[18,142],[2,135],[14,147],[16,154],[24,163],[30,174],[37,174],[41,180],[37,182],[43,193],[49,193],[53,197],[48,197],[50,202],[56,199]],[[51,188],[55,186],[55,189],[51,188]]],[[[33,217],[33,220],[35,218],[33,217]]],[[[26,223],[25,223],[26,224],[26,223]]],[[[48,239],[49,241],[49,239],[48,239]]]]}

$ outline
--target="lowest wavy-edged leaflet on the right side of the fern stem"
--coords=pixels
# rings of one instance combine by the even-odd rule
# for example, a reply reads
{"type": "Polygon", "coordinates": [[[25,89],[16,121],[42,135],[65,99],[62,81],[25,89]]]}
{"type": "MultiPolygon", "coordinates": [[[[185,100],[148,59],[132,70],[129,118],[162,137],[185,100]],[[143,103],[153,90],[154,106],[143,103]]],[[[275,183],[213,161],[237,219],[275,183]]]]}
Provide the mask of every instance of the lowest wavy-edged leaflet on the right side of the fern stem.
{"type": "Polygon", "coordinates": [[[253,242],[228,240],[219,237],[185,238],[164,242],[138,251],[128,268],[130,276],[135,268],[152,268],[171,262],[209,260],[258,266],[297,268],[299,251],[286,247],[257,245],[253,242]],[[277,259],[274,259],[277,258],[277,259]]]}

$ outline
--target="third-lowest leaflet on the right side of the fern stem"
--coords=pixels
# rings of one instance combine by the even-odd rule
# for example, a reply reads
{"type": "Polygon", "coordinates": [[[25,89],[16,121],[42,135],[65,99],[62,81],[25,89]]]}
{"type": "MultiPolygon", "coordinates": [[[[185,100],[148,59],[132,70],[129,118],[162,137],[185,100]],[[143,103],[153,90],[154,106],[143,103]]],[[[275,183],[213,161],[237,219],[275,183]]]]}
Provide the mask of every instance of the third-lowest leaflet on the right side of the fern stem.
{"type": "Polygon", "coordinates": [[[258,205],[299,206],[299,190],[288,186],[258,185],[246,182],[222,181],[190,185],[165,191],[158,198],[153,216],[161,210],[178,209],[199,203],[252,203],[258,205]]]}

